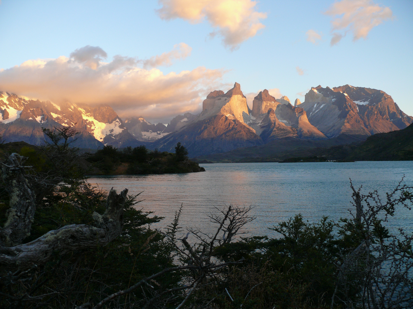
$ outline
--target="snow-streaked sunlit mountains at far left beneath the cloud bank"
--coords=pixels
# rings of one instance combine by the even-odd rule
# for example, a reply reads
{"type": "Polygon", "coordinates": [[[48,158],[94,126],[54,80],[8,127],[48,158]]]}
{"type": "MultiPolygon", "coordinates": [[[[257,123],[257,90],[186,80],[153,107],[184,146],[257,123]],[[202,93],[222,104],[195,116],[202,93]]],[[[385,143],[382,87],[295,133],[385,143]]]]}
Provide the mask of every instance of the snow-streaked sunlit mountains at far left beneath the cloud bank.
{"type": "Polygon", "coordinates": [[[0,134],[7,142],[25,141],[39,145],[44,141],[42,127],[74,125],[80,132],[76,145],[98,148],[109,144],[116,147],[138,144],[122,120],[109,106],[90,107],[70,103],[29,100],[15,94],[0,92],[0,134]]]}

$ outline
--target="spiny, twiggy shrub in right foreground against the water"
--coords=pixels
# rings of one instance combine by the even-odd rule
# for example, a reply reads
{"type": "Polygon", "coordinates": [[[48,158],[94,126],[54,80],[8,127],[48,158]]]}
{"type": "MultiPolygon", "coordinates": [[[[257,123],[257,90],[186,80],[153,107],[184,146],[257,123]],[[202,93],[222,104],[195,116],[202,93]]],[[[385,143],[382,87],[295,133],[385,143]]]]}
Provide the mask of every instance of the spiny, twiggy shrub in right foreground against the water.
{"type": "Polygon", "coordinates": [[[397,208],[412,209],[413,187],[402,181],[384,201],[377,190],[362,194],[350,181],[355,213],[350,211],[352,220],[336,225],[347,245],[337,261],[331,308],[337,303],[351,308],[413,307],[413,234],[383,225],[397,208]]]}

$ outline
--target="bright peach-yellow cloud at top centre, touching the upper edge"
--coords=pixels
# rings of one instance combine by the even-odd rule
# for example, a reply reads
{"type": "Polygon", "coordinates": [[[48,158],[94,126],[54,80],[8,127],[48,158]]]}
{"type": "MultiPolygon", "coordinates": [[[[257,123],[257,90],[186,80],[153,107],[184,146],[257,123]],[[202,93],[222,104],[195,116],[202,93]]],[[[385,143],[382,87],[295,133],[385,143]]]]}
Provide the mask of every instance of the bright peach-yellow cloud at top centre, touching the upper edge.
{"type": "Polygon", "coordinates": [[[157,13],[165,20],[181,18],[199,23],[207,19],[216,28],[210,36],[222,36],[225,47],[235,50],[265,27],[260,20],[266,19],[267,14],[256,12],[256,3],[252,0],[159,0],[162,7],[157,13]]]}

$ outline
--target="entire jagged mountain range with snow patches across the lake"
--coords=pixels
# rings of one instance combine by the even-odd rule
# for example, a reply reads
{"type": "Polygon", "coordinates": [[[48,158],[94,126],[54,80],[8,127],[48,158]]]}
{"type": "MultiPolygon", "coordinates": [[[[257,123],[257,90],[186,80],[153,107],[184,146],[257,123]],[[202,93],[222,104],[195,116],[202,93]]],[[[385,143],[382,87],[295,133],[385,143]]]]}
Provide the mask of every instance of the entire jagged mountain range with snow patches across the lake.
{"type": "Polygon", "coordinates": [[[384,91],[350,85],[312,87],[304,102],[296,99],[294,106],[287,96],[276,99],[264,89],[250,109],[240,84],[235,83],[227,92],[211,91],[200,114],[178,115],[167,125],[151,124],[143,117],[123,121],[107,105],[57,105],[7,92],[0,92],[0,114],[0,134],[6,141],[38,145],[44,138],[42,127],[74,125],[80,132],[79,147],[145,144],[173,152],[181,142],[191,157],[286,140],[303,145],[330,143],[330,139],[351,143],[375,133],[404,129],[413,122],[384,91]]]}

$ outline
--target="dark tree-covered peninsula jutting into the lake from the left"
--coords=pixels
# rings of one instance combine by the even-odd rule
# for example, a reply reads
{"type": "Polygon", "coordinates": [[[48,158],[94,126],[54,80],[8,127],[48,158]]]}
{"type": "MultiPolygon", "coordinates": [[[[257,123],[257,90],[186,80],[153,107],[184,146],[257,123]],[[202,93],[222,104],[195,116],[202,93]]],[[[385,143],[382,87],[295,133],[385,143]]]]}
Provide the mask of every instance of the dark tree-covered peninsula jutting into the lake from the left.
{"type": "Polygon", "coordinates": [[[117,149],[106,145],[89,154],[87,161],[95,164],[97,174],[163,174],[204,171],[199,164],[188,159],[188,151],[180,143],[175,153],[148,150],[145,145],[117,149]]]}

